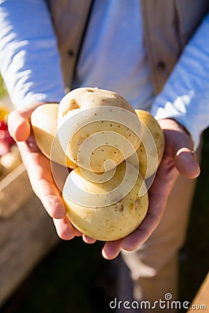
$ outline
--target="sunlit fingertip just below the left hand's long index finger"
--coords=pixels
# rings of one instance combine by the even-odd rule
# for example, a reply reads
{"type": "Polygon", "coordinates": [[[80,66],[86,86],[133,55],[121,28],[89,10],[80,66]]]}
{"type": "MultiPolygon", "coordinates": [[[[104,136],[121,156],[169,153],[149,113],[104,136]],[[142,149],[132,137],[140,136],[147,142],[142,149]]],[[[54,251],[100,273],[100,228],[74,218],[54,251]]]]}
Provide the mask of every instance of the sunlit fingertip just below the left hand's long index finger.
{"type": "Polygon", "coordinates": [[[66,216],[61,219],[54,218],[53,220],[56,227],[56,232],[61,239],[70,240],[75,237],[75,227],[72,226],[66,216]]]}

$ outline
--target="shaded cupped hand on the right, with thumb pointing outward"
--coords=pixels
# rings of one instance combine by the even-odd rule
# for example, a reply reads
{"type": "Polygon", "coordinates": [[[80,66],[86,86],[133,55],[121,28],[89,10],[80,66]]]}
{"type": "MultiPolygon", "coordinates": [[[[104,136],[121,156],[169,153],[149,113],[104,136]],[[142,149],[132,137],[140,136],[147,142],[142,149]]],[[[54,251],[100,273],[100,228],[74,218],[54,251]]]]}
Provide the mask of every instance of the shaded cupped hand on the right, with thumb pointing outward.
{"type": "Polygon", "coordinates": [[[148,191],[148,214],[132,234],[104,244],[102,255],[106,259],[114,259],[122,249],[135,250],[148,239],[162,219],[167,199],[178,175],[191,179],[199,176],[200,167],[195,161],[192,139],[185,129],[171,119],[159,120],[159,123],[164,130],[165,151],[148,191]]]}

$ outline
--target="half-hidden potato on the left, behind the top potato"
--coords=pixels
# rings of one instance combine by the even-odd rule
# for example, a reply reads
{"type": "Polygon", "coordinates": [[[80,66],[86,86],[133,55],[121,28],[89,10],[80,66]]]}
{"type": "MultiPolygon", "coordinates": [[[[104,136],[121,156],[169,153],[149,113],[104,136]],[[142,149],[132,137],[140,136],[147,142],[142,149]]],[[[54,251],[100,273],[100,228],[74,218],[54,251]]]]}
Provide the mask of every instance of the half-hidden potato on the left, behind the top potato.
{"type": "Polygon", "coordinates": [[[56,134],[59,104],[42,104],[31,114],[31,125],[38,148],[47,158],[68,168],[76,168],[65,156],[56,134]]]}

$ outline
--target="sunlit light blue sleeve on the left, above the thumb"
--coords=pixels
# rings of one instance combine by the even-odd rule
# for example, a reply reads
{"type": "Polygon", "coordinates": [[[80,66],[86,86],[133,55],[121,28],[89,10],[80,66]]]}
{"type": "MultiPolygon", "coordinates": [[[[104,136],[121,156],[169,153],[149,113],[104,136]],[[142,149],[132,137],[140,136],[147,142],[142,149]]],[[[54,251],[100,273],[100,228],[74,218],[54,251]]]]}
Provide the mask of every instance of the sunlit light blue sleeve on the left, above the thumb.
{"type": "Polygon", "coordinates": [[[44,0],[0,0],[0,69],[17,109],[64,95],[56,36],[44,0]]]}

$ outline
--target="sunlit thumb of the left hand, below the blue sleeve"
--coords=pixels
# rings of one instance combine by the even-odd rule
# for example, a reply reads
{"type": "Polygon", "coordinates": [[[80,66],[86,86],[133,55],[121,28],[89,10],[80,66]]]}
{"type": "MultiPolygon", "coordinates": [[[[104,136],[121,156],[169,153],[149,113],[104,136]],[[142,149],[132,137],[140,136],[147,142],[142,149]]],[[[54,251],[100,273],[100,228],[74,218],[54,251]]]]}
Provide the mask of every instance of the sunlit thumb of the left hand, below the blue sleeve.
{"type": "Polygon", "coordinates": [[[8,131],[15,141],[26,141],[31,133],[29,117],[20,111],[8,115],[8,131]]]}

